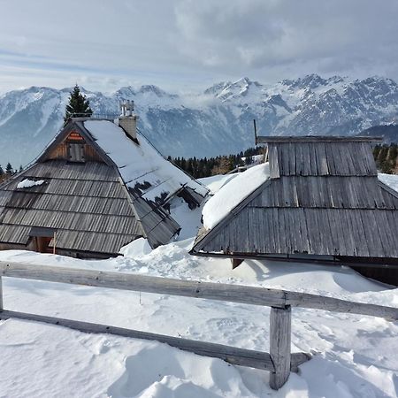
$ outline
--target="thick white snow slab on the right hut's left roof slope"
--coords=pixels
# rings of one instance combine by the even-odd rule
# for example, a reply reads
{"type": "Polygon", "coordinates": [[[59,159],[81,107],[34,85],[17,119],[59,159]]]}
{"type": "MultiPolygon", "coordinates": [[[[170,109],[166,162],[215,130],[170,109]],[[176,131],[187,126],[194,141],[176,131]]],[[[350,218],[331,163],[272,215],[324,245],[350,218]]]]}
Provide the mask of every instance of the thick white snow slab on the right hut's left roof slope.
{"type": "Polygon", "coordinates": [[[210,197],[202,210],[203,226],[211,229],[233,210],[243,199],[270,178],[268,163],[256,165],[242,172],[210,197]]]}

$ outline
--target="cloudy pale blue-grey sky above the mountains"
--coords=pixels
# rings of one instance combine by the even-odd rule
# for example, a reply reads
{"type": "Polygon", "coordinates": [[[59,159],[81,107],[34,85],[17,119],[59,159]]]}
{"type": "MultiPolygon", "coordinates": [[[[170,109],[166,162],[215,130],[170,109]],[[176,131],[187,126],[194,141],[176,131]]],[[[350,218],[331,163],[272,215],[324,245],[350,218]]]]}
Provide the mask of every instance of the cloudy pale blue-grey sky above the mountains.
{"type": "Polygon", "coordinates": [[[0,0],[0,93],[202,90],[248,76],[398,80],[397,0],[0,0]]]}

